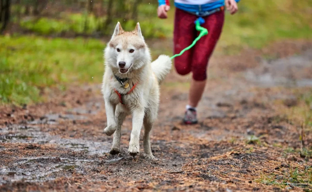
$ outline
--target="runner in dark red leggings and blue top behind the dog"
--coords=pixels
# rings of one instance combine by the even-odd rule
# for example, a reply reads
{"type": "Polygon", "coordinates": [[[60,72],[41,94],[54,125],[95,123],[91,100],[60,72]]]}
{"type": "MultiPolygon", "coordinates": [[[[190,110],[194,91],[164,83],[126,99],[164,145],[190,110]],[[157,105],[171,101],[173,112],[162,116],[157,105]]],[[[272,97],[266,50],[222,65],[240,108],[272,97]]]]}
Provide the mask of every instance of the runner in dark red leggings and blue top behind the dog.
{"type": "MultiPolygon", "coordinates": [[[[174,58],[174,66],[178,74],[193,73],[189,90],[188,105],[183,118],[185,124],[196,124],[196,107],[200,101],[207,78],[207,65],[210,56],[222,32],[224,22],[224,5],[234,14],[237,12],[239,0],[174,0],[175,18],[173,31],[174,54],[180,53],[192,44],[199,32],[195,29],[195,20],[205,20],[201,26],[208,30],[208,35],[197,41],[194,47],[174,58]]],[[[169,0],[158,0],[157,14],[159,18],[167,18],[170,9],[169,0]]]]}

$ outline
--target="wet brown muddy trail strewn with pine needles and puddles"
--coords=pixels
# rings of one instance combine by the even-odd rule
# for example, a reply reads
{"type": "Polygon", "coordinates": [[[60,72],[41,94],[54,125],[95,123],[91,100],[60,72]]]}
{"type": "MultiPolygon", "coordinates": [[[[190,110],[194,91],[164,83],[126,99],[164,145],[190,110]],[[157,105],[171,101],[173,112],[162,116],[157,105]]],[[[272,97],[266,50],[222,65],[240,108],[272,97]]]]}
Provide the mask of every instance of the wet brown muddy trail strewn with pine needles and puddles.
{"type": "Polygon", "coordinates": [[[100,85],[2,106],[0,191],[312,191],[312,130],[303,130],[303,153],[302,122],[287,116],[312,91],[312,43],[215,56],[208,76],[194,126],[181,124],[191,76],[166,78],[151,133],[156,160],[127,154],[130,117],[121,153],[109,154],[100,85]]]}

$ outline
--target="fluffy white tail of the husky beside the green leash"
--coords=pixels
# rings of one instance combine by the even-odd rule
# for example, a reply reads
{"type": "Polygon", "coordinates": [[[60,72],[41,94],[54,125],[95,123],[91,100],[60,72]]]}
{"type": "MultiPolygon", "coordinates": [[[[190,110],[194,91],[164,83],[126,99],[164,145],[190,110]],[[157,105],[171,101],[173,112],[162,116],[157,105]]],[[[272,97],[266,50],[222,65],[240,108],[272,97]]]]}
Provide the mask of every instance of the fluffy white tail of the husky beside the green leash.
{"type": "Polygon", "coordinates": [[[160,55],[152,62],[152,70],[157,77],[158,84],[160,84],[170,72],[171,63],[171,59],[167,55],[160,55]]]}

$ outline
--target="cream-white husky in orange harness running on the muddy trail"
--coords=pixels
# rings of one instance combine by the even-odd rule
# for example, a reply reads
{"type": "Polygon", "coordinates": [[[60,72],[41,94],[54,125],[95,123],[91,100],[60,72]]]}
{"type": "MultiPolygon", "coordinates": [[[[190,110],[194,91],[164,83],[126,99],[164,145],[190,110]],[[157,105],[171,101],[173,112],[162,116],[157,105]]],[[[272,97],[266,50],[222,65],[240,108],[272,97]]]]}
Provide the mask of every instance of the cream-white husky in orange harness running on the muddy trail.
{"type": "Polygon", "coordinates": [[[118,22],[104,52],[102,93],[107,116],[104,133],[114,133],[110,153],[119,153],[121,125],[125,117],[131,114],[132,131],[128,153],[132,156],[139,153],[139,136],[144,125],[144,156],[154,159],[149,132],[158,113],[159,84],[169,73],[171,60],[168,56],[160,55],[151,63],[149,48],[139,23],[134,31],[126,32],[118,22]]]}

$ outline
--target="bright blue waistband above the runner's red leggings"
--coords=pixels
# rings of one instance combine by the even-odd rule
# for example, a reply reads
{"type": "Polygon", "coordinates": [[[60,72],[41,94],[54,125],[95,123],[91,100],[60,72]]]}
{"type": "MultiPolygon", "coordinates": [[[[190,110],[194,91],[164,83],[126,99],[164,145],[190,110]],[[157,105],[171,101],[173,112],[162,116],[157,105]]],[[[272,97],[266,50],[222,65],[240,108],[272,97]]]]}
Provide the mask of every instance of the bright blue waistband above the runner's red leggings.
{"type": "MultiPolygon", "coordinates": [[[[235,0],[236,2],[239,2],[240,0],[235,0]]],[[[217,10],[218,8],[224,6],[224,0],[219,0],[203,5],[189,5],[189,4],[183,4],[183,3],[174,3],[174,6],[177,7],[178,9],[182,9],[183,11],[199,15],[199,16],[204,16],[207,14],[207,12],[211,12],[214,10],[217,10]]]]}

